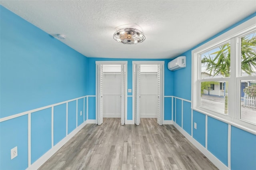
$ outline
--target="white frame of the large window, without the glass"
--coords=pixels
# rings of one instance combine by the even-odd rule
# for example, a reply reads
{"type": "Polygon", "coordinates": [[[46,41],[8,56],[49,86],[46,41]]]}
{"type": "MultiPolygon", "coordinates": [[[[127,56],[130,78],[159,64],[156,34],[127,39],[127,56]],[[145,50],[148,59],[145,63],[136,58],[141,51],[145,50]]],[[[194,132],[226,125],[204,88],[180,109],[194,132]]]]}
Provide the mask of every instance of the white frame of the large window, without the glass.
{"type": "MultiPolygon", "coordinates": [[[[241,76],[240,67],[240,38],[256,29],[256,17],[232,28],[220,36],[200,45],[192,50],[192,81],[191,81],[191,106],[192,109],[205,115],[209,115],[256,134],[256,125],[240,119],[240,80],[255,79],[255,76],[241,76]],[[220,114],[216,111],[200,107],[200,75],[201,75],[201,56],[203,52],[230,42],[230,77],[215,78],[214,81],[228,81],[228,115],[220,114]],[[237,68],[237,69],[236,69],[237,68]]],[[[212,81],[205,79],[203,81],[212,81]]]]}

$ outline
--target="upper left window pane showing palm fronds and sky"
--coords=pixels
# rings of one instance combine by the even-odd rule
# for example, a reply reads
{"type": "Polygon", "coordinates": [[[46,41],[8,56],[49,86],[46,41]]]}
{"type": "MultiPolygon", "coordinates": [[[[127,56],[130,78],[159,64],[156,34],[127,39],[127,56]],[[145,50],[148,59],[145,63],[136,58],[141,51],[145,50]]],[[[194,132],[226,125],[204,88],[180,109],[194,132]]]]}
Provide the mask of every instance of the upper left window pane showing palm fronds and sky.
{"type": "Polygon", "coordinates": [[[201,54],[201,78],[230,76],[230,43],[201,54]]]}

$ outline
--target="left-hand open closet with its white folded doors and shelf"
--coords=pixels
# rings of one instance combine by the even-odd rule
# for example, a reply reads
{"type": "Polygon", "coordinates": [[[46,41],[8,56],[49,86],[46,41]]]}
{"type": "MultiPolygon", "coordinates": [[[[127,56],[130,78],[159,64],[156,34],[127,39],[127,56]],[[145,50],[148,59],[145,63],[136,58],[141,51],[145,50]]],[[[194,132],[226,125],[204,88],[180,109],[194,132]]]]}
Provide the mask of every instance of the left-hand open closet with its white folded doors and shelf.
{"type": "Polygon", "coordinates": [[[96,61],[96,119],[98,125],[103,118],[120,118],[125,123],[127,62],[96,61]]]}

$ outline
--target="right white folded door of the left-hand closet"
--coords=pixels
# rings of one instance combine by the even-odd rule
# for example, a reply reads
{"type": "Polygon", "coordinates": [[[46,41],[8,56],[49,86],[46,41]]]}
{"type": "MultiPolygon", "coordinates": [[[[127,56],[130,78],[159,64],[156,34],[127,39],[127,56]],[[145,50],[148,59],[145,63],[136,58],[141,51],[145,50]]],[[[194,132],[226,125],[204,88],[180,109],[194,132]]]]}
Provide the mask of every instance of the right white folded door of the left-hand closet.
{"type": "Polygon", "coordinates": [[[121,64],[121,125],[124,125],[125,119],[125,65],[121,64]]]}

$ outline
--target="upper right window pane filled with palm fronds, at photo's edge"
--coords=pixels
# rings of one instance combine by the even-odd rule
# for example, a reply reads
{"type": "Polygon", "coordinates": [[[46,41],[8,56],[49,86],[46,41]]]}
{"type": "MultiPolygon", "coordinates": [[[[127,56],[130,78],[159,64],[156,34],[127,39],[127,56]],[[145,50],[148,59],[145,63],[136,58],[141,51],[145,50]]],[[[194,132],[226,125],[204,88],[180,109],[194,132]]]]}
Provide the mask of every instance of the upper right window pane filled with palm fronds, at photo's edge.
{"type": "Polygon", "coordinates": [[[241,75],[256,76],[256,32],[241,38],[241,75]]]}

